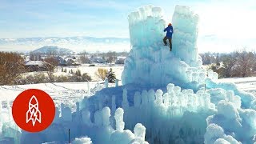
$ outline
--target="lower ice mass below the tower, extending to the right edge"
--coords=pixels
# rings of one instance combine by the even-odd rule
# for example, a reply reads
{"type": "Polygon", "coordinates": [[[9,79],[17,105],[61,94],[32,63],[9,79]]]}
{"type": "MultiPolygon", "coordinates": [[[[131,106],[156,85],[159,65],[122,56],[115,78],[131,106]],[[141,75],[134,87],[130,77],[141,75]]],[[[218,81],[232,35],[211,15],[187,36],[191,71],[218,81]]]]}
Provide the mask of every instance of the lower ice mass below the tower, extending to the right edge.
{"type": "MultiPolygon", "coordinates": [[[[211,70],[208,75],[214,77],[211,70]]],[[[122,107],[126,128],[142,123],[150,143],[256,142],[254,95],[210,78],[206,90],[182,90],[172,83],[165,90],[128,85],[102,90],[87,103],[93,103],[92,112],[100,109],[99,103],[113,110],[122,107]]]]}

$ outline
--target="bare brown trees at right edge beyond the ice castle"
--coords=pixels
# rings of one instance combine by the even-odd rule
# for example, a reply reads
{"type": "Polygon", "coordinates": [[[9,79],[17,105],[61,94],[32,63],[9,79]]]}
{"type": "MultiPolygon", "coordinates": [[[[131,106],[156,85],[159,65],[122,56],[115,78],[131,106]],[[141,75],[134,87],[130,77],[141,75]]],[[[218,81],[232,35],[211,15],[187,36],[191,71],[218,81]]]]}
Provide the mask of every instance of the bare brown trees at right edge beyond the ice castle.
{"type": "Polygon", "coordinates": [[[203,65],[218,73],[219,78],[251,77],[256,75],[256,53],[237,50],[229,54],[201,54],[203,65]]]}

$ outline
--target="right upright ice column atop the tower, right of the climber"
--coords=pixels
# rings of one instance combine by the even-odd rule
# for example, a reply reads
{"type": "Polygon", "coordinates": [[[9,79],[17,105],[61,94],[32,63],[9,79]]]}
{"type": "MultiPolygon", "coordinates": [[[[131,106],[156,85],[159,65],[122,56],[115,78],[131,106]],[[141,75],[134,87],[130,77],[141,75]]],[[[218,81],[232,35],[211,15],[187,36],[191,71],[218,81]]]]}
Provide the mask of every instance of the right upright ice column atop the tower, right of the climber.
{"type": "Polygon", "coordinates": [[[190,7],[176,6],[172,18],[174,34],[172,38],[173,52],[190,66],[200,66],[198,59],[198,14],[190,7]]]}

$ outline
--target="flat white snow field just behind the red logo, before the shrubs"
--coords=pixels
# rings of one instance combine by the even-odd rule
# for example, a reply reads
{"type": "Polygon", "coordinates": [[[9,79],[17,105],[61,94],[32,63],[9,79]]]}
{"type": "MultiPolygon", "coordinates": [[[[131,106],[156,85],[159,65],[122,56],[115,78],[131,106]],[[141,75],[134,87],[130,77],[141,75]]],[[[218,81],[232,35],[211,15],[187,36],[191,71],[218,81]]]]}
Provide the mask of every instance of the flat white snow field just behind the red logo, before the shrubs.
{"type": "MultiPolygon", "coordinates": [[[[82,100],[84,97],[90,97],[94,94],[96,86],[104,88],[104,82],[56,82],[56,83],[39,83],[18,86],[0,86],[0,102],[8,101],[10,104],[23,90],[40,89],[46,91],[53,99],[57,106],[64,103],[75,109],[75,102],[82,100]],[[89,84],[89,86],[88,86],[89,84]],[[90,91],[89,91],[90,90],[90,91]]],[[[115,86],[110,83],[109,86],[115,86]]]]}

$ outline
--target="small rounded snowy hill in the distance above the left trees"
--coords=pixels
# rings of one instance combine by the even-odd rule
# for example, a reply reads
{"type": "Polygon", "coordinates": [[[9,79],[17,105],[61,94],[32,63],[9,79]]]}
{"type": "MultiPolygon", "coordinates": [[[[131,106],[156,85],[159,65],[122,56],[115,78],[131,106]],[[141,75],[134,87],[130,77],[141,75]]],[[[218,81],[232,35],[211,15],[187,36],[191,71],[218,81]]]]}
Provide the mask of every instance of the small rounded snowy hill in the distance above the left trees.
{"type": "Polygon", "coordinates": [[[56,54],[74,54],[73,50],[69,50],[66,48],[61,48],[58,46],[43,46],[37,50],[33,50],[31,53],[34,54],[50,54],[50,53],[56,53],[56,54]]]}

